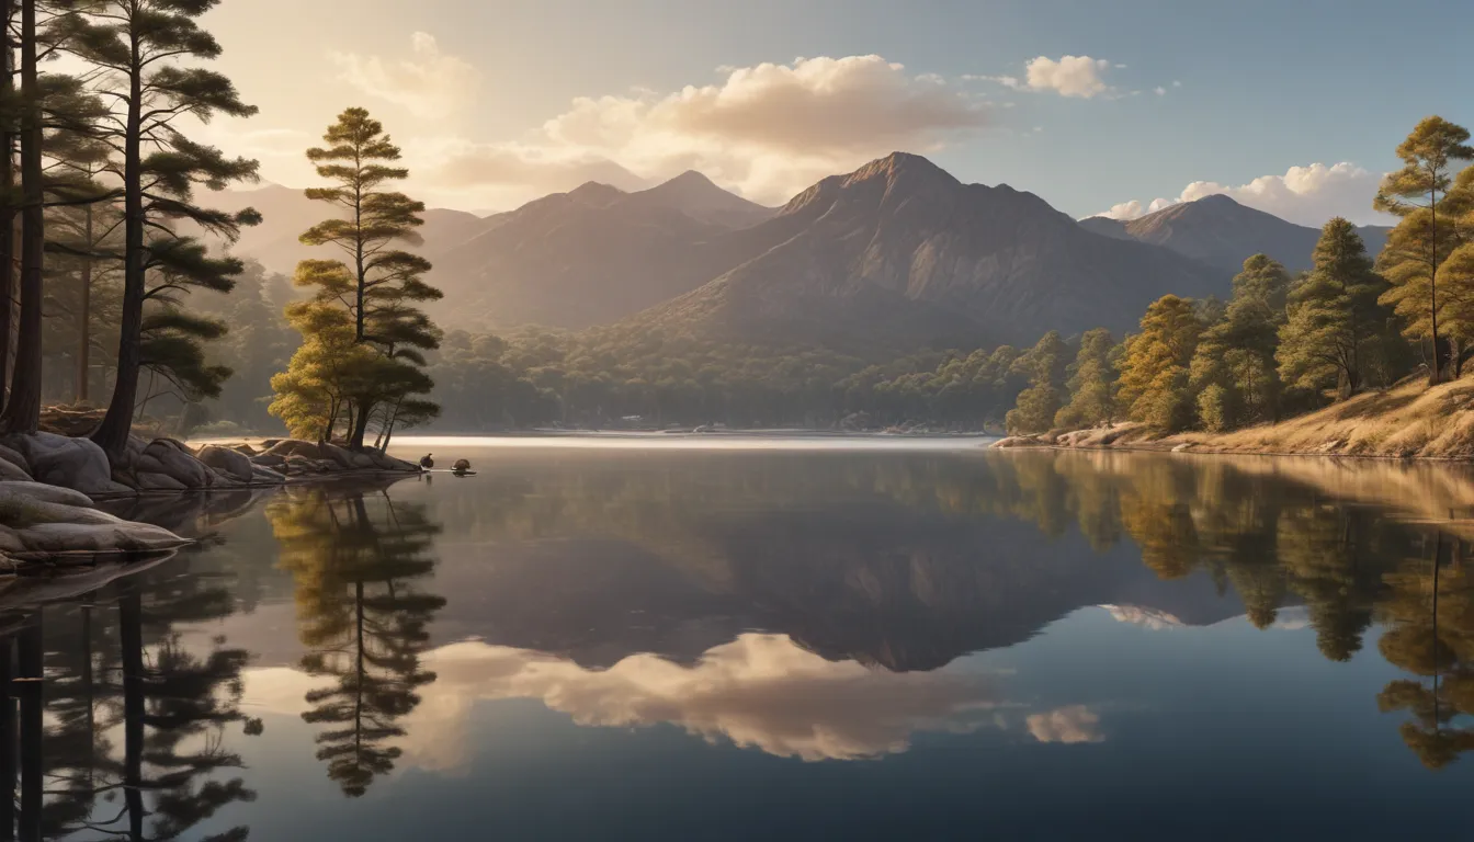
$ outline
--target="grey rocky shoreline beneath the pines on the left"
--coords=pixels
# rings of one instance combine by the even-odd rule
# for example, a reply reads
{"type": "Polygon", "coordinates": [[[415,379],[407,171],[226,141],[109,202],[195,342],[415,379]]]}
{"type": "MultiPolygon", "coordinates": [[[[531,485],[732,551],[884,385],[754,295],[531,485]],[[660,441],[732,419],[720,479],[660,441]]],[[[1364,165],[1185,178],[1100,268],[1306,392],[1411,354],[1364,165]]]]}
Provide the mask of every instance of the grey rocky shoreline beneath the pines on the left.
{"type": "Polygon", "coordinates": [[[9,435],[0,438],[0,577],[78,556],[90,563],[168,553],[192,543],[162,526],[103,512],[99,501],[419,472],[417,465],[377,451],[298,439],[192,448],[172,438],[134,436],[124,456],[111,462],[87,438],[9,435]]]}

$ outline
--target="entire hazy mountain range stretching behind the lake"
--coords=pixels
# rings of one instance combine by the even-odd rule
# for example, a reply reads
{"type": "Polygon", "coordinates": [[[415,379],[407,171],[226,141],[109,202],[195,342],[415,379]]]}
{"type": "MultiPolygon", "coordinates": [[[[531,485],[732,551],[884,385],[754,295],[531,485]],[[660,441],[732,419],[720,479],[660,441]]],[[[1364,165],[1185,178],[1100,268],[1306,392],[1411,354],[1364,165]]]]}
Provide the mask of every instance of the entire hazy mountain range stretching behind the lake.
{"type": "MultiPolygon", "coordinates": [[[[301,190],[206,203],[262,212],[234,251],[270,270],[330,254],[296,240],[323,217],[301,190]]],[[[964,184],[901,152],[783,208],[690,171],[638,192],[591,181],[489,217],[429,209],[420,233],[413,248],[435,262],[445,299],[432,316],[447,327],[619,324],[858,355],[1120,333],[1162,295],[1226,296],[1253,254],[1307,268],[1319,234],[1228,196],[1075,221],[1033,193],[964,184]]],[[[1386,234],[1362,229],[1374,252],[1386,234]]]]}

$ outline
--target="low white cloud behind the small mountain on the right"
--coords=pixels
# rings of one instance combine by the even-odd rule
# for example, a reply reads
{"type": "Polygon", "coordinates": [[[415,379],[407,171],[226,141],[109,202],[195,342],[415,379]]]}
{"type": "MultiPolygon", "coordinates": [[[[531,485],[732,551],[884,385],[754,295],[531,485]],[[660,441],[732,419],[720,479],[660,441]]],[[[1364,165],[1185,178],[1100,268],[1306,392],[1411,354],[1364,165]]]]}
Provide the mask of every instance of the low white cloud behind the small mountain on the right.
{"type": "Polygon", "coordinates": [[[1260,175],[1238,186],[1194,181],[1176,198],[1159,198],[1150,202],[1132,199],[1113,205],[1100,215],[1135,220],[1181,202],[1225,195],[1250,208],[1316,229],[1331,217],[1346,217],[1358,224],[1386,223],[1384,217],[1371,209],[1380,181],[1381,177],[1375,173],[1344,161],[1332,165],[1309,164],[1291,167],[1284,175],[1260,175]]]}

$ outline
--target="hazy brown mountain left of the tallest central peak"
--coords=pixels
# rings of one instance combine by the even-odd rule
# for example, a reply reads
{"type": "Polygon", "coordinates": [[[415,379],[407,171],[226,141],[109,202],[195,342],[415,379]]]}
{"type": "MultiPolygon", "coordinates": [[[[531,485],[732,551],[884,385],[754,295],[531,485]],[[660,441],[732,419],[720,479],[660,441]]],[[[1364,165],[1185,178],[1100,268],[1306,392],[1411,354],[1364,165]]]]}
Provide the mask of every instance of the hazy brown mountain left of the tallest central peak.
{"type": "MultiPolygon", "coordinates": [[[[223,190],[203,203],[261,211],[264,224],[246,229],[233,251],[273,271],[292,273],[302,260],[333,254],[298,242],[327,212],[302,190],[223,190]]],[[[445,301],[432,314],[447,326],[578,329],[618,321],[741,262],[756,245],[705,243],[774,212],[694,171],[634,193],[590,181],[489,217],[430,208],[420,229],[425,242],[411,251],[435,262],[430,280],[445,301]]]]}

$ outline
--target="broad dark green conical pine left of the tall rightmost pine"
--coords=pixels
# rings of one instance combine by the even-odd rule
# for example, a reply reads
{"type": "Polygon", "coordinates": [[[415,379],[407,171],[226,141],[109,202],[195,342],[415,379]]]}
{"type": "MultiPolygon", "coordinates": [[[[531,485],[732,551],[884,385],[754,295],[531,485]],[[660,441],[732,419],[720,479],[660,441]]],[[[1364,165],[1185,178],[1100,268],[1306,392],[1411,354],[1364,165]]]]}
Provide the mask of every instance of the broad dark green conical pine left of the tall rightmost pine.
{"type": "Polygon", "coordinates": [[[1356,392],[1391,317],[1378,304],[1387,289],[1356,227],[1340,217],[1327,223],[1315,246],[1315,268],[1293,288],[1279,329],[1284,382],[1318,392],[1334,388],[1338,398],[1356,392]]]}

